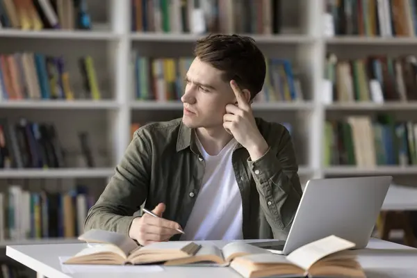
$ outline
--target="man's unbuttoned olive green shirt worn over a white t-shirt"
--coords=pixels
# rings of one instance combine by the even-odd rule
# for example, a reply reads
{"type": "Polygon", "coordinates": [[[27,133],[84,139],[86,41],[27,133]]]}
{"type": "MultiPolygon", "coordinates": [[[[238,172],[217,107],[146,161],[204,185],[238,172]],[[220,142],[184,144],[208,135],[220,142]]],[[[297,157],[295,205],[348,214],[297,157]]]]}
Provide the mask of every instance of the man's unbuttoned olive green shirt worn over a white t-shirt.
{"type": "MultiPolygon", "coordinates": [[[[238,144],[232,164],[243,206],[243,238],[286,239],[302,196],[290,133],[281,124],[256,118],[268,151],[251,161],[238,144]]],[[[129,235],[140,206],[165,203],[163,218],[186,227],[204,174],[195,132],[181,118],[140,127],[115,174],[85,220],[88,229],[129,235]]],[[[171,240],[179,240],[177,234],[171,240]]]]}

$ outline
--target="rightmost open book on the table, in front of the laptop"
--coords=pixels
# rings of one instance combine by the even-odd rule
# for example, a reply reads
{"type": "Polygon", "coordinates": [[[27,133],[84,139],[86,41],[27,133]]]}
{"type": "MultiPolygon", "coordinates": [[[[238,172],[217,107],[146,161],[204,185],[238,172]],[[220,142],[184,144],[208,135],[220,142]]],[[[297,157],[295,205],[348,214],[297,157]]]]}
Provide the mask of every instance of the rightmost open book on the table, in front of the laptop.
{"type": "Polygon", "coordinates": [[[252,277],[366,277],[354,254],[343,252],[354,243],[328,236],[280,256],[252,254],[234,259],[230,266],[245,278],[252,277]]]}

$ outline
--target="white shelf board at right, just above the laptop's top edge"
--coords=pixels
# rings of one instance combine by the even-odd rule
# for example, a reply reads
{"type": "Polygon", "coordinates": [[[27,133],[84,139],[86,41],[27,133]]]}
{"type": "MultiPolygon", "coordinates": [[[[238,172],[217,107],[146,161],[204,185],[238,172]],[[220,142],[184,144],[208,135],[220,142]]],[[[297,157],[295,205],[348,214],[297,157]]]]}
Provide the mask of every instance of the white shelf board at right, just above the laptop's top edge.
{"type": "Polygon", "coordinates": [[[362,174],[393,174],[393,175],[407,175],[417,174],[416,166],[377,166],[373,168],[366,167],[349,167],[349,166],[332,166],[323,170],[325,175],[343,175],[354,176],[362,174]]]}

